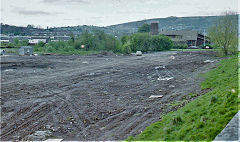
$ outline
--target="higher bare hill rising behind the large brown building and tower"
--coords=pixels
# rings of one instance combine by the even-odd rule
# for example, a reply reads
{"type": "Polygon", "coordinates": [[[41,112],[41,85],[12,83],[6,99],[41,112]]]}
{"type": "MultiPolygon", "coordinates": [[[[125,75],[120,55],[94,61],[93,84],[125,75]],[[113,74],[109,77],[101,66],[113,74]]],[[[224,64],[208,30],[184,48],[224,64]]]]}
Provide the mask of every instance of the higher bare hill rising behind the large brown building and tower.
{"type": "Polygon", "coordinates": [[[159,30],[195,30],[203,32],[207,31],[208,27],[213,25],[216,19],[220,16],[198,16],[198,17],[168,17],[147,19],[136,22],[123,23],[118,25],[108,26],[122,33],[136,32],[138,27],[151,22],[159,22],[159,30]]]}

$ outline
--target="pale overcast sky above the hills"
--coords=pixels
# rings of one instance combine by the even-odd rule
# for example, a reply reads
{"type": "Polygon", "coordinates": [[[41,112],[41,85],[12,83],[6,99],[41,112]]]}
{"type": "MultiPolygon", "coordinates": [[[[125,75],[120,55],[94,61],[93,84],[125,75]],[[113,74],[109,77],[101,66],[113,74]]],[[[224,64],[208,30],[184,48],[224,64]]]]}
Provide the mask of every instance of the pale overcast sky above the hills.
{"type": "Polygon", "coordinates": [[[95,25],[169,16],[239,13],[238,0],[0,0],[1,22],[42,27],[95,25]]]}

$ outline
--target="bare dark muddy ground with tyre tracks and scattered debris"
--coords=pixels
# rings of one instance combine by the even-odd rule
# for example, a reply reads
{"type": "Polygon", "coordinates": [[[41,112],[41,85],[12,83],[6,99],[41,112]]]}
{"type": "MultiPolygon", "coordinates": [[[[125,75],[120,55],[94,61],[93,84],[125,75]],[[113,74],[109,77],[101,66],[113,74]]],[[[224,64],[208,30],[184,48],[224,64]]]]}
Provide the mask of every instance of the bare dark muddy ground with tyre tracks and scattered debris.
{"type": "Polygon", "coordinates": [[[218,61],[207,51],[2,56],[1,140],[39,130],[64,140],[124,140],[200,92],[199,74],[218,61]]]}

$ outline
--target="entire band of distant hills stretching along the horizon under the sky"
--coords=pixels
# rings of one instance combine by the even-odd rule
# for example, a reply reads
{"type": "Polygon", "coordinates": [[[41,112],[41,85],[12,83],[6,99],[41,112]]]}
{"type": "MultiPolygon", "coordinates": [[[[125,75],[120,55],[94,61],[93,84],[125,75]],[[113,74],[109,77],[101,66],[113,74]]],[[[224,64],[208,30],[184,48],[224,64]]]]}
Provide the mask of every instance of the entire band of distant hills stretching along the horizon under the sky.
{"type": "MultiPolygon", "coordinates": [[[[54,27],[49,29],[16,27],[1,24],[1,33],[14,33],[15,35],[69,35],[72,32],[75,35],[79,35],[86,30],[89,32],[102,30],[107,34],[122,36],[134,33],[141,25],[145,23],[150,24],[151,22],[159,22],[159,30],[194,30],[199,32],[203,32],[205,30],[207,32],[208,28],[213,25],[219,17],[220,16],[168,17],[128,22],[106,27],[83,25],[54,27]]],[[[236,21],[237,19],[238,16],[236,16],[236,21]]]]}

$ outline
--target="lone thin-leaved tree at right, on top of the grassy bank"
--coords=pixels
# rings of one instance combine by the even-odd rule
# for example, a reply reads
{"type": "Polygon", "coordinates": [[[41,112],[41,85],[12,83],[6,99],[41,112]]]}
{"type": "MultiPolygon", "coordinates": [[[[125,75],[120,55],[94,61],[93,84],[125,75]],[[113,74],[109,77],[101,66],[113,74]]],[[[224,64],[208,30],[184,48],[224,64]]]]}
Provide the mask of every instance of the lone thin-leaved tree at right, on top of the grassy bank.
{"type": "Polygon", "coordinates": [[[209,28],[208,36],[224,55],[235,53],[238,45],[238,15],[226,12],[216,24],[209,28]]]}

